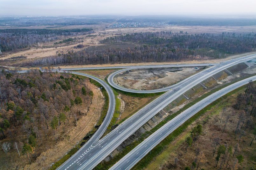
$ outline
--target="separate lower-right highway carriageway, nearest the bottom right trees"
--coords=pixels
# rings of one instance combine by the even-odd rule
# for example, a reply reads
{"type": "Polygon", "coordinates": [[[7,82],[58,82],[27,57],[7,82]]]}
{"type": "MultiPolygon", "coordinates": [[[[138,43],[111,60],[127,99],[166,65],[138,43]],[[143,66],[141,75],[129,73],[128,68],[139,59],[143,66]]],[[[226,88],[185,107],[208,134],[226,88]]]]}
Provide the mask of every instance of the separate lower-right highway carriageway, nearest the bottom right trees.
{"type": "Polygon", "coordinates": [[[140,143],[127,155],[125,155],[121,160],[119,160],[113,167],[111,167],[110,170],[126,170],[132,168],[165,137],[171,134],[176,128],[182,125],[185,121],[187,121],[201,109],[209,105],[211,102],[217,100],[221,96],[231,92],[232,90],[247,84],[250,80],[256,81],[256,76],[236,82],[197,102],[187,110],[183,111],[181,114],[177,115],[171,121],[166,123],[163,127],[159,128],[156,132],[151,134],[147,139],[145,139],[142,143],[140,143]]]}

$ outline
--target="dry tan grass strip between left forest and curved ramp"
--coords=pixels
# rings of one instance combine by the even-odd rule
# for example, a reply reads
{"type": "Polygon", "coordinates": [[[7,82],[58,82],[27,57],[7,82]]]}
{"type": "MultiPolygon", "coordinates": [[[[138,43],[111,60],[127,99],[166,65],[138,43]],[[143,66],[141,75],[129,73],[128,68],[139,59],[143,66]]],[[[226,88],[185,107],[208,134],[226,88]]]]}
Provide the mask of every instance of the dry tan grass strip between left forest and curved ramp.
{"type": "Polygon", "coordinates": [[[24,169],[48,169],[52,163],[63,157],[93,128],[100,118],[104,97],[95,85],[91,84],[91,89],[94,95],[87,115],[78,121],[77,126],[71,129],[69,135],[63,141],[59,141],[55,146],[43,152],[35,162],[26,165],[24,169]]]}

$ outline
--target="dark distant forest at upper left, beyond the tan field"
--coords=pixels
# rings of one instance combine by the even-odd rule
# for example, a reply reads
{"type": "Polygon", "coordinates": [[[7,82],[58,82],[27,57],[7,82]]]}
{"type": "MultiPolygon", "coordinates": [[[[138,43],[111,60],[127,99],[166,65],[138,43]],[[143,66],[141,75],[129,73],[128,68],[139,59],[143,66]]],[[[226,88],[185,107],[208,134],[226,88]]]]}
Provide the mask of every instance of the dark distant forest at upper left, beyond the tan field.
{"type": "Polygon", "coordinates": [[[60,39],[60,36],[80,36],[92,33],[93,29],[0,29],[2,52],[28,48],[42,42],[60,39]]]}

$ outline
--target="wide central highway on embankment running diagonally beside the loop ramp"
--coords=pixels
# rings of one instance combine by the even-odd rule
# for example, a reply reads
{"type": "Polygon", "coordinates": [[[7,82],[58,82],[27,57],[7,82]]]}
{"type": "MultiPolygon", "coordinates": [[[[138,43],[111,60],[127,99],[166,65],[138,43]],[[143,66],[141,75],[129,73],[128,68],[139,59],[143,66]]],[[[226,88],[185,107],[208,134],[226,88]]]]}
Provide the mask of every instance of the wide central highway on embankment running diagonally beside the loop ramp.
{"type": "Polygon", "coordinates": [[[255,57],[256,55],[253,54],[232,59],[212,66],[208,69],[204,69],[199,73],[186,78],[180,83],[177,83],[175,88],[172,88],[144,108],[140,109],[137,113],[133,114],[126,121],[122,122],[117,128],[112,130],[100,141],[94,143],[88,152],[84,152],[84,154],[81,154],[77,159],[72,159],[73,161],[70,160],[69,163],[66,163],[65,166],[58,169],[93,169],[93,167],[106,158],[107,155],[114,151],[116,147],[118,147],[123,141],[132,135],[138,128],[140,128],[150,118],[152,118],[155,114],[161,111],[170,102],[174,101],[184,92],[224,69],[241,62],[246,62],[255,57]]]}

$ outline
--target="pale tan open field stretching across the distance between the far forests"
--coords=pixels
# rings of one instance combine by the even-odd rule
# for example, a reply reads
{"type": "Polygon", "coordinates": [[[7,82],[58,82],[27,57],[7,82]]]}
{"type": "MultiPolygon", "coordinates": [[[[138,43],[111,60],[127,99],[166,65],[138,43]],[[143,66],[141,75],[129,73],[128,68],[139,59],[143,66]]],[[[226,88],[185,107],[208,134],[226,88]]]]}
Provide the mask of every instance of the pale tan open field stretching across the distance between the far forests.
{"type": "MultiPolygon", "coordinates": [[[[86,37],[87,35],[84,36],[77,36],[77,37],[83,37],[84,38],[84,42],[83,45],[85,46],[84,48],[80,48],[80,49],[74,49],[75,46],[77,46],[79,43],[77,44],[73,44],[73,45],[67,45],[67,46],[63,46],[63,47],[57,47],[57,48],[41,48],[42,46],[49,46],[49,45],[53,45],[54,42],[59,42],[58,41],[54,41],[54,42],[50,42],[50,43],[42,43],[40,44],[40,48],[37,47],[31,47],[31,49],[29,50],[25,50],[25,51],[20,51],[20,52],[14,52],[14,53],[10,53],[10,54],[6,54],[3,55],[1,57],[1,59],[7,59],[10,57],[14,57],[14,56],[27,56],[28,59],[31,58],[38,58],[38,57],[46,57],[46,56],[56,56],[58,55],[58,53],[67,53],[70,50],[81,50],[81,49],[85,49],[88,46],[97,46],[99,45],[99,41],[102,39],[105,39],[106,37],[110,37],[110,36],[116,36],[118,33],[118,29],[120,28],[114,28],[114,29],[106,29],[106,34],[102,34],[102,28],[108,26],[107,24],[101,24],[98,25],[97,28],[95,28],[95,33],[93,33],[92,35],[96,35],[95,37],[86,37]]],[[[39,26],[39,27],[35,27],[35,28],[44,28],[43,26],[39,26]]],[[[73,26],[73,27],[68,27],[68,28],[85,28],[88,26],[73,26]]],[[[26,27],[26,28],[30,28],[30,27],[26,27]]],[[[66,27],[65,27],[66,28],[66,27]]],[[[1,28],[0,28],[1,29],[1,28]]],[[[61,28],[63,29],[63,28],[61,28]]],[[[123,35],[126,34],[130,34],[130,33],[134,33],[134,32],[156,32],[156,31],[172,31],[172,32],[180,32],[183,31],[184,33],[187,32],[188,34],[199,34],[199,33],[222,33],[222,32],[253,32],[255,31],[256,26],[245,26],[243,28],[241,27],[217,27],[217,26],[213,26],[213,27],[209,27],[209,26],[170,26],[170,27],[161,27],[161,28],[152,28],[152,27],[146,27],[146,28],[121,28],[121,33],[123,35]]],[[[72,36],[70,36],[72,37],[72,36]]],[[[67,37],[65,37],[67,38],[67,37]]],[[[65,39],[63,38],[63,39],[65,39]]]]}

